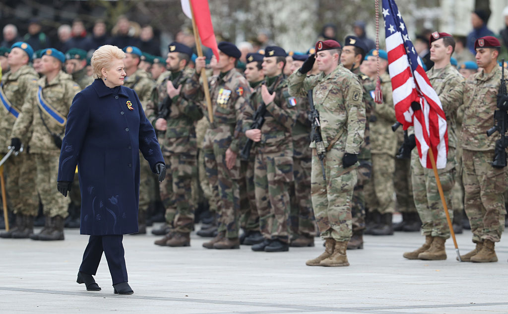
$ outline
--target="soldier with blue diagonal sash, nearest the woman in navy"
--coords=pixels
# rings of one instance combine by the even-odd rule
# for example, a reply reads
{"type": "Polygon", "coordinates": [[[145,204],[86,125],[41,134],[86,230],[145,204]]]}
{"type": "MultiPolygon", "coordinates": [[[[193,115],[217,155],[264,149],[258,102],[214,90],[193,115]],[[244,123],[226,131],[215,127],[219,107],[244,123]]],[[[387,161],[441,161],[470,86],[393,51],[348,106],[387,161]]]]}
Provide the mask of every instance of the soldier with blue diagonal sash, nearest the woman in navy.
{"type": "Polygon", "coordinates": [[[24,144],[35,155],[37,192],[46,216],[42,231],[30,236],[36,240],[63,240],[63,219],[68,214],[69,199],[60,197],[55,189],[58,156],[69,108],[81,89],[69,74],[61,71],[63,62],[62,52],[54,48],[44,50],[41,62],[44,76],[29,91],[11,133],[11,146],[15,150],[27,139],[24,144]]]}

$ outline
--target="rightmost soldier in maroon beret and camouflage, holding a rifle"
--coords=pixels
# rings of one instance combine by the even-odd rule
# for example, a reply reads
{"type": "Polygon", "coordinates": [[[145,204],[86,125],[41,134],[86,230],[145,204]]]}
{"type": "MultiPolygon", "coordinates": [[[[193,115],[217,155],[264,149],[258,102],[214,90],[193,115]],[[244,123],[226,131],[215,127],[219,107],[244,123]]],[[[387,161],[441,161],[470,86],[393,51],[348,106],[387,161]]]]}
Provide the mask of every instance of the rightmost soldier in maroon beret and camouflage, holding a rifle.
{"type": "Polygon", "coordinates": [[[496,133],[488,137],[492,127],[501,79],[497,65],[500,43],[492,37],[479,38],[474,43],[479,73],[471,75],[464,84],[464,119],[461,142],[462,167],[467,217],[476,247],[462,255],[465,262],[497,262],[494,243],[504,230],[504,192],[508,184],[506,167],[491,166],[495,157],[496,133]]]}

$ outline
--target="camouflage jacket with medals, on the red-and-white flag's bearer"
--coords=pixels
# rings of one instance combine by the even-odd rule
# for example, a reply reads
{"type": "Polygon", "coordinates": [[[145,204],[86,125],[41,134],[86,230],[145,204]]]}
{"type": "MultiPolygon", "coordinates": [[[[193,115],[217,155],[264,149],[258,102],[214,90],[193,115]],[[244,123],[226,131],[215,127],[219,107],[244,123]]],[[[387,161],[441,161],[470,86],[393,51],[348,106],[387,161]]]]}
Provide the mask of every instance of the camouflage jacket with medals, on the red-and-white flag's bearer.
{"type": "MultiPolygon", "coordinates": [[[[245,135],[242,132],[241,113],[249,102],[250,86],[238,71],[232,69],[219,76],[209,78],[210,99],[213,111],[213,123],[210,128],[216,129],[217,137],[231,140],[228,147],[233,152],[239,152],[245,143],[245,135]]],[[[183,87],[187,99],[202,102],[204,99],[203,87],[200,76],[194,71],[183,87]]],[[[203,111],[208,117],[206,102],[203,111]]]]}

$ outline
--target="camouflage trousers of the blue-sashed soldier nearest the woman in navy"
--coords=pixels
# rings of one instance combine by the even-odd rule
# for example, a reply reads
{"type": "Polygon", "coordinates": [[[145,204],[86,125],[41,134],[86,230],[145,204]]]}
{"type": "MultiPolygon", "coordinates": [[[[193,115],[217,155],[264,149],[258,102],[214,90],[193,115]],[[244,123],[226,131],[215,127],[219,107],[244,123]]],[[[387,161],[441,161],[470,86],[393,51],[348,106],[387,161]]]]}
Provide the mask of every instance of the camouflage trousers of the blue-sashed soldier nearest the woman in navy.
{"type": "Polygon", "coordinates": [[[36,187],[42,205],[44,215],[48,217],[68,216],[67,209],[71,200],[63,197],[56,190],[58,177],[58,154],[34,154],[37,165],[36,187]]]}

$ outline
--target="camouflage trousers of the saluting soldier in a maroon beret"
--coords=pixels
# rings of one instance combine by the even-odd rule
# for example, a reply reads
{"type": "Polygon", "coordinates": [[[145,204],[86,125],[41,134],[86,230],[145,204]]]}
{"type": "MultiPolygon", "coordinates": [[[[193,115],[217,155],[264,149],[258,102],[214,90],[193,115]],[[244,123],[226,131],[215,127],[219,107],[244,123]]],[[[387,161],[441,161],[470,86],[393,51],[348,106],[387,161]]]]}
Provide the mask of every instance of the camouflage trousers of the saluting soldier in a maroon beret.
{"type": "Polygon", "coordinates": [[[354,166],[342,168],[344,152],[332,148],[324,159],[326,181],[321,162],[312,149],[311,194],[317,228],[322,238],[349,241],[352,235],[351,206],[353,189],[358,181],[354,166]]]}

